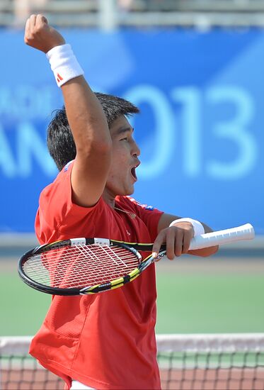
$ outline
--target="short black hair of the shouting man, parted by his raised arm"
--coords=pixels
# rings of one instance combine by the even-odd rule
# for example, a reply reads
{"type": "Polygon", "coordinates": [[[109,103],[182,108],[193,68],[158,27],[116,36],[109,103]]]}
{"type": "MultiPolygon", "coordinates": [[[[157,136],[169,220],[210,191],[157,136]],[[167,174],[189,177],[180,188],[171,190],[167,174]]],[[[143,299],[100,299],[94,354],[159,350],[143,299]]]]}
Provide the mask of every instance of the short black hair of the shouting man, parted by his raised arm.
{"type": "MultiPolygon", "coordinates": [[[[101,103],[109,128],[120,116],[139,113],[139,108],[130,101],[99,92],[95,94],[101,103]]],[[[59,171],[76,157],[76,146],[64,106],[54,111],[54,117],[47,128],[47,148],[59,171]]]]}

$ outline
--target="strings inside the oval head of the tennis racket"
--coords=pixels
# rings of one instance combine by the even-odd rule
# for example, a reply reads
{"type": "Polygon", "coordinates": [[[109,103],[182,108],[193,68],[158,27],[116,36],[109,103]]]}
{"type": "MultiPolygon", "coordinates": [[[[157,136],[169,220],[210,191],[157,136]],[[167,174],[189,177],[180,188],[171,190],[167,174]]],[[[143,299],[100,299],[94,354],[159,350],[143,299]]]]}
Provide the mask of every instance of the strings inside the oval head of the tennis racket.
{"type": "Polygon", "coordinates": [[[24,272],[40,284],[73,288],[104,284],[137,268],[134,253],[118,246],[98,244],[64,247],[31,257],[24,272]]]}

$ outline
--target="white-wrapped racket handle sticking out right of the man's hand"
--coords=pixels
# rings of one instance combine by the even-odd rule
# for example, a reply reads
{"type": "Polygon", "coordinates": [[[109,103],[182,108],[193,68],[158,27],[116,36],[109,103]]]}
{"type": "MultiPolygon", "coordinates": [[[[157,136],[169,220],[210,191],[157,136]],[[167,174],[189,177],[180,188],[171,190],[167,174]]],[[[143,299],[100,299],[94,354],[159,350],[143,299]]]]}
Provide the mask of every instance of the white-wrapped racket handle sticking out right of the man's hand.
{"type": "Polygon", "coordinates": [[[246,225],[241,225],[238,228],[197,235],[191,240],[189,250],[229,244],[241,240],[252,240],[254,237],[253,226],[250,223],[246,223],[246,225]]]}

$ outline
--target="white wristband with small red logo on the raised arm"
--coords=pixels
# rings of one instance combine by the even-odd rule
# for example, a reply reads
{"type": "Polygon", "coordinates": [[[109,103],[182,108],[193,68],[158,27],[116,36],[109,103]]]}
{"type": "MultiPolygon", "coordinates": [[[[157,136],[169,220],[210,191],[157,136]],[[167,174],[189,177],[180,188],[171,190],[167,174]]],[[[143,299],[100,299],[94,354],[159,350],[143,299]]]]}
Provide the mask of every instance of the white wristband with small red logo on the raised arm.
{"type": "Polygon", "coordinates": [[[58,87],[84,74],[83,69],[76,60],[74,52],[71,50],[71,45],[55,46],[46,53],[47,59],[50,61],[50,66],[58,87]]]}

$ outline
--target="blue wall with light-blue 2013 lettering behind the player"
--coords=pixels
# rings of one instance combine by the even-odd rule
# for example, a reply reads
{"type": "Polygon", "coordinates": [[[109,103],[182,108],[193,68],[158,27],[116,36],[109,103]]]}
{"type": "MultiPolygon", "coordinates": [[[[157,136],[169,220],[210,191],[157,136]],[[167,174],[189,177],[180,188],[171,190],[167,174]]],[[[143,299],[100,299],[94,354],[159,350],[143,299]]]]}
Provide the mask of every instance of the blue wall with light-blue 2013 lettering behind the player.
{"type": "MultiPolygon", "coordinates": [[[[93,89],[142,109],[137,200],[264,234],[264,33],[63,33],[93,89]]],[[[22,32],[0,31],[0,45],[0,232],[31,232],[40,191],[57,174],[45,133],[62,96],[22,32]]]]}

